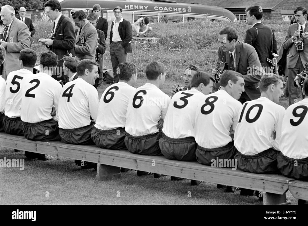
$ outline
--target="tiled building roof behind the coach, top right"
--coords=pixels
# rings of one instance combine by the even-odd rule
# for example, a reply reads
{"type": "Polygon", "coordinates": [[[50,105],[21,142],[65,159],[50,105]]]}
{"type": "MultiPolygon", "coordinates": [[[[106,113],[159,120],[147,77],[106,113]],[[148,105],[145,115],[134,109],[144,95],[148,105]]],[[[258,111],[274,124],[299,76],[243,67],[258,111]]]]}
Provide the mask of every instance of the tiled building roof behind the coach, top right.
{"type": "Polygon", "coordinates": [[[198,3],[208,6],[219,6],[227,9],[245,9],[247,6],[257,5],[266,10],[275,10],[288,0],[175,0],[179,3],[198,3]]]}

